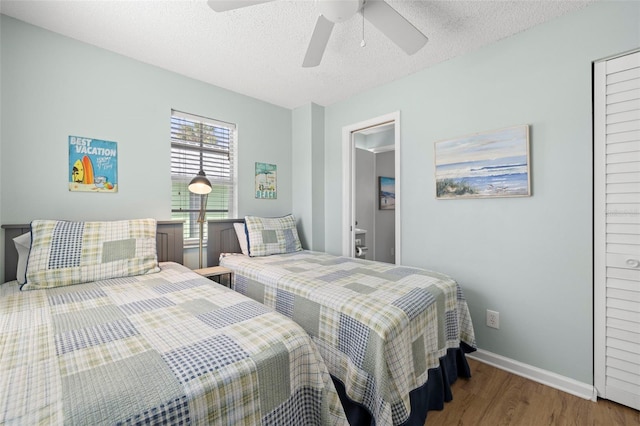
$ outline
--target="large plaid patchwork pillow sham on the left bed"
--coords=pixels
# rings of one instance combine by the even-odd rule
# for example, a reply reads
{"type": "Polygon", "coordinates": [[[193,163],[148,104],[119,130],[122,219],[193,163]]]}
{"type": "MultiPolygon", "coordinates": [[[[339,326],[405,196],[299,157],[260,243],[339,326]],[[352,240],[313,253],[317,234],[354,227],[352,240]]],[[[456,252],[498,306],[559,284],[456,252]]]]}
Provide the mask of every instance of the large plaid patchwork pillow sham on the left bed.
{"type": "Polygon", "coordinates": [[[34,220],[31,235],[27,282],[21,290],[160,271],[155,219],[34,220]]]}

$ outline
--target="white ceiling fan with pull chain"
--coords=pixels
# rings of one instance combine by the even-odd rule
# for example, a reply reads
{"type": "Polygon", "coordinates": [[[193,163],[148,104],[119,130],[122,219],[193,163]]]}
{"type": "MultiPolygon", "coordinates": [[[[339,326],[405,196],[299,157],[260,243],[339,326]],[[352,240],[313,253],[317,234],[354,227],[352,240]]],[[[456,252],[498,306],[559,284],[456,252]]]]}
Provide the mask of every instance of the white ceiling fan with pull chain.
{"type": "MultiPolygon", "coordinates": [[[[239,9],[273,0],[208,0],[216,12],[239,9]]],[[[336,23],[346,21],[358,12],[407,54],[413,55],[429,40],[416,27],[383,0],[316,0],[320,16],[311,35],[303,67],[320,65],[336,23]]]]}

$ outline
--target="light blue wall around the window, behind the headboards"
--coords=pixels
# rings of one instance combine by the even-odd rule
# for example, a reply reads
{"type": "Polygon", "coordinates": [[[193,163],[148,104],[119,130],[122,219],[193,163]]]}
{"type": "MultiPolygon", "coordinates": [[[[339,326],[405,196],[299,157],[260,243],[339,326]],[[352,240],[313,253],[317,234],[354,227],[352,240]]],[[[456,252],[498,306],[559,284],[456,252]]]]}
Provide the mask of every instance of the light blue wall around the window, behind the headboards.
{"type": "Polygon", "coordinates": [[[2,223],[169,219],[171,108],[237,124],[241,216],[291,211],[289,109],[0,19],[2,223]],[[118,143],[117,194],[69,192],[69,135],[118,143]],[[278,166],[277,200],[255,199],[256,161],[278,166]]]}

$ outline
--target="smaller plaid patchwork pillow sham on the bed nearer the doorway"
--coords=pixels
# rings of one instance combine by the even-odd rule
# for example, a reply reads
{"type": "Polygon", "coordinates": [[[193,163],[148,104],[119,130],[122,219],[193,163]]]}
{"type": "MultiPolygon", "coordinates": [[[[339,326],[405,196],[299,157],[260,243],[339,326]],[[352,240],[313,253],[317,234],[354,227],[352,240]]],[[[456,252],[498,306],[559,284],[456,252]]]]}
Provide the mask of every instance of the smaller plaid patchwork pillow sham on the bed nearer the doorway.
{"type": "Polygon", "coordinates": [[[302,250],[293,215],[246,216],[244,223],[249,237],[249,256],[269,256],[302,250]]]}

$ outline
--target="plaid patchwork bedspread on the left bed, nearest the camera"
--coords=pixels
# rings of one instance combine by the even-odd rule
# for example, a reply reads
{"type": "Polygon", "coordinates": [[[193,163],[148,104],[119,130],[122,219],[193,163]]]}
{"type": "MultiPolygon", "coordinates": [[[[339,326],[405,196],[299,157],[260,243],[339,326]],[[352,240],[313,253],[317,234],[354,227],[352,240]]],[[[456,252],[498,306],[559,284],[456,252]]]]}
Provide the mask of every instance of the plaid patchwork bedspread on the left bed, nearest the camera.
{"type": "Polygon", "coordinates": [[[298,325],[175,263],[0,286],[0,424],[347,424],[298,325]]]}

